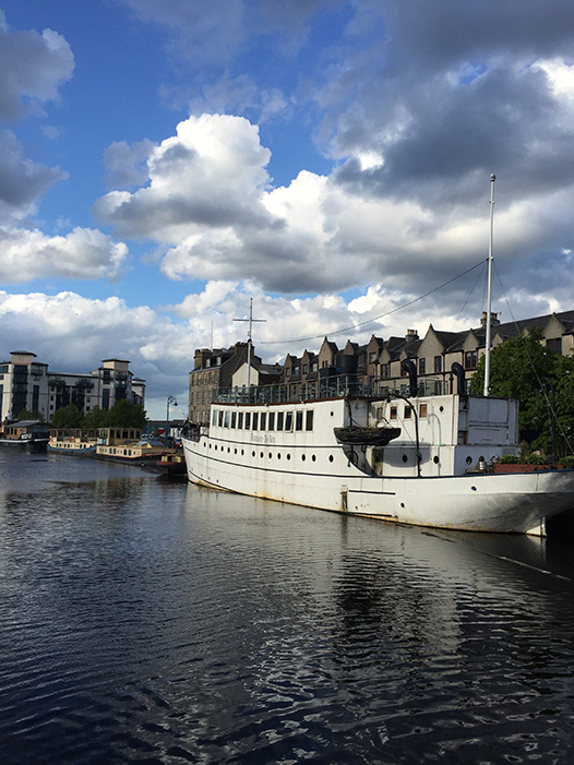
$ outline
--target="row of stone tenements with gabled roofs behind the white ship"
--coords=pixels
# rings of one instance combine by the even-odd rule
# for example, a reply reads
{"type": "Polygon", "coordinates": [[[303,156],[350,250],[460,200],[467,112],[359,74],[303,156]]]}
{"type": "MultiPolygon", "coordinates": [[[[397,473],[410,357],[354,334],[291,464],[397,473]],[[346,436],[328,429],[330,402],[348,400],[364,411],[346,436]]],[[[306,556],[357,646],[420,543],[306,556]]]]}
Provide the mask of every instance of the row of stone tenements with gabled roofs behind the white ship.
{"type": "MultiPolygon", "coordinates": [[[[443,332],[429,325],[424,336],[417,330],[408,330],[404,337],[391,336],[386,339],[371,336],[364,345],[347,340],[340,348],[336,343],[324,338],[319,351],[304,350],[301,357],[288,354],[280,373],[268,366],[267,375],[252,374],[250,384],[265,384],[277,381],[285,386],[289,398],[309,399],[318,395],[338,395],[350,383],[368,385],[375,395],[391,391],[407,392],[410,387],[405,360],[417,372],[419,391],[426,394],[452,392],[457,380],[452,366],[457,362],[465,374],[468,387],[486,349],[486,320],[482,314],[480,325],[463,332],[443,332]]],[[[574,349],[574,311],[551,313],[534,319],[502,324],[497,314],[491,315],[492,347],[504,343],[517,334],[526,334],[538,327],[542,343],[550,349],[570,355],[574,349]]],[[[190,373],[190,419],[208,422],[210,403],[220,389],[246,384],[241,369],[247,364],[247,344],[238,343],[229,349],[196,350],[195,368],[190,373]],[[238,372],[238,370],[240,370],[238,372]]],[[[252,355],[253,369],[262,370],[265,364],[252,355]]]]}

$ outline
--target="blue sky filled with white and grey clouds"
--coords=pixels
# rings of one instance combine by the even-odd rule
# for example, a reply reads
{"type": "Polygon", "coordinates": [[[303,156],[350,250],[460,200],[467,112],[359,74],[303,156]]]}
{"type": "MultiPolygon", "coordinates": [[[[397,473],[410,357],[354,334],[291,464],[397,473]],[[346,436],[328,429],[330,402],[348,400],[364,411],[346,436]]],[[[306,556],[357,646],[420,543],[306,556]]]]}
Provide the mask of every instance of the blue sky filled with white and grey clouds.
{"type": "Polygon", "coordinates": [[[571,310],[572,0],[0,0],[0,356],[266,362],[571,310]]]}

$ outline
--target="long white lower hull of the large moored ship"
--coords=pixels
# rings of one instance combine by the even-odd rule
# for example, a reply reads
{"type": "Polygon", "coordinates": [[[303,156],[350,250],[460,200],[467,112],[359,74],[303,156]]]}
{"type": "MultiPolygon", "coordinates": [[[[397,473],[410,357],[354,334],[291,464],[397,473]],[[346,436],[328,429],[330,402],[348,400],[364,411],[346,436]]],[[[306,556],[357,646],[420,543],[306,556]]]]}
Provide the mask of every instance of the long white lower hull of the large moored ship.
{"type": "Polygon", "coordinates": [[[350,463],[344,470],[320,474],[241,465],[228,462],[226,454],[205,457],[205,438],[183,439],[183,450],[194,483],[417,526],[543,535],[546,518],[574,505],[574,470],[378,477],[350,463]]]}

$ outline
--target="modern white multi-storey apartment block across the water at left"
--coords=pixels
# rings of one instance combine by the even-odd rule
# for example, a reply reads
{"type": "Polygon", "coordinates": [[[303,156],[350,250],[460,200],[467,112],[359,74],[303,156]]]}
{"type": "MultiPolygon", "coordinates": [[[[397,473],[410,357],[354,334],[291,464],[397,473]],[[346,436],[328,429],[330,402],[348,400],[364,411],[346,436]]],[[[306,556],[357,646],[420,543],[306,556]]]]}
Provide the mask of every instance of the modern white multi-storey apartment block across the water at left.
{"type": "Polygon", "coordinates": [[[23,409],[39,411],[49,421],[69,404],[83,414],[95,406],[110,409],[122,398],[144,404],[145,381],[133,376],[124,359],[105,359],[92,372],[71,373],[50,372],[31,351],[15,350],[10,356],[10,361],[0,362],[2,422],[16,418],[23,409]]]}

